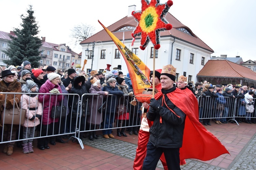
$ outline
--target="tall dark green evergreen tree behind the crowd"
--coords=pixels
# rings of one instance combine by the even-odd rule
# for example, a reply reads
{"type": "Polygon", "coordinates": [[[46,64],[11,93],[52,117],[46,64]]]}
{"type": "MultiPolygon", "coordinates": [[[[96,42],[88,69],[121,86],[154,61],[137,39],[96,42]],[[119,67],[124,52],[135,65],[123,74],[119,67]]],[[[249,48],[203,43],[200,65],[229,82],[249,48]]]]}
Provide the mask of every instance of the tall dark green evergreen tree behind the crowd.
{"type": "Polygon", "coordinates": [[[35,21],[33,14],[32,5],[29,5],[27,15],[22,14],[20,16],[22,19],[21,29],[14,28],[16,36],[9,35],[12,39],[9,44],[10,48],[4,53],[10,57],[10,60],[4,60],[5,64],[20,66],[23,61],[27,60],[31,63],[32,68],[39,67],[39,61],[41,60],[39,49],[42,41],[37,36],[39,26],[37,26],[38,23],[35,21]]]}

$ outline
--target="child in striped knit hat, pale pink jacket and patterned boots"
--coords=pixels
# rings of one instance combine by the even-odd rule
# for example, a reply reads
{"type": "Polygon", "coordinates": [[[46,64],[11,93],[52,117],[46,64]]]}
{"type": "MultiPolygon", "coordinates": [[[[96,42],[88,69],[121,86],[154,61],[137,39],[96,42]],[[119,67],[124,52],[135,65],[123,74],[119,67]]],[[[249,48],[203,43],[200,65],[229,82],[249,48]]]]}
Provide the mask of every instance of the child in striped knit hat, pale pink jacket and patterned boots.
{"type": "MultiPolygon", "coordinates": [[[[26,80],[26,84],[22,86],[22,92],[24,93],[38,93],[39,88],[32,79],[26,80]]],[[[32,141],[34,137],[34,130],[37,125],[40,124],[39,118],[42,115],[42,103],[38,101],[38,95],[23,94],[21,98],[21,105],[23,109],[26,109],[26,119],[23,124],[23,153],[32,153],[33,146],[32,141]]]]}

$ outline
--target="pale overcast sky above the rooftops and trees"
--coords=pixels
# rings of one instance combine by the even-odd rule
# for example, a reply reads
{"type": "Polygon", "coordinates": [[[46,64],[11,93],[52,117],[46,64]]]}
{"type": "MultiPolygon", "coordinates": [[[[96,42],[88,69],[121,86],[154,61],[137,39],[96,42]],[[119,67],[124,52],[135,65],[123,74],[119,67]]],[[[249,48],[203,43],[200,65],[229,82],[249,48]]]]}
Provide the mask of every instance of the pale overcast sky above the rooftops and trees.
{"type": "MultiPolygon", "coordinates": [[[[19,27],[20,15],[26,14],[31,4],[40,26],[39,37],[46,37],[49,43],[66,43],[76,53],[82,50],[70,38],[75,25],[90,24],[97,33],[102,30],[98,19],[108,27],[127,16],[128,6],[141,10],[140,0],[0,0],[0,4],[0,31],[19,27]]],[[[212,56],[239,55],[243,61],[256,60],[255,0],[173,0],[169,12],[214,50],[212,56]]]]}

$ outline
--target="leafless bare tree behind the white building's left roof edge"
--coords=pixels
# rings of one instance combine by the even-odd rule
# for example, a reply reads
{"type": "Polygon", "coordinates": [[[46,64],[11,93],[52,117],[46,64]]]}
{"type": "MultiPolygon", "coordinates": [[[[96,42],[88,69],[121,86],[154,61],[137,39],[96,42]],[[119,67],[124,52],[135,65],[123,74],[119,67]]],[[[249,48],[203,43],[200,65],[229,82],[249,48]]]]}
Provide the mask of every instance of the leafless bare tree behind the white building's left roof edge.
{"type": "Polygon", "coordinates": [[[70,31],[70,37],[73,38],[75,45],[77,45],[86,38],[92,36],[94,34],[95,27],[81,23],[80,25],[73,27],[70,31]]]}

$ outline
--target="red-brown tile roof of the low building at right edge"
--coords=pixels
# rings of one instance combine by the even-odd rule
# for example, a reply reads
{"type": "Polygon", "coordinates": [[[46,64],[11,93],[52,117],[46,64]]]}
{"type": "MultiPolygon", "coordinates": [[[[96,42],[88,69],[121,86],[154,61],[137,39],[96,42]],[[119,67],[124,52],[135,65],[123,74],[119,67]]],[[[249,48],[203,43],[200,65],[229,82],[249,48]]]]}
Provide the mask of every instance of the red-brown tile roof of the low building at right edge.
{"type": "Polygon", "coordinates": [[[253,70],[228,60],[208,60],[197,76],[245,78],[256,81],[256,73],[253,70]]]}

